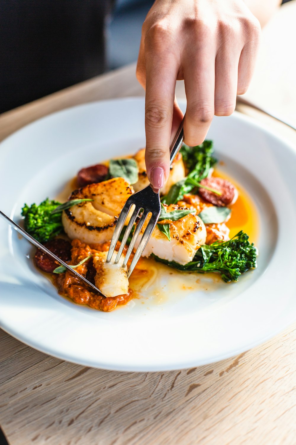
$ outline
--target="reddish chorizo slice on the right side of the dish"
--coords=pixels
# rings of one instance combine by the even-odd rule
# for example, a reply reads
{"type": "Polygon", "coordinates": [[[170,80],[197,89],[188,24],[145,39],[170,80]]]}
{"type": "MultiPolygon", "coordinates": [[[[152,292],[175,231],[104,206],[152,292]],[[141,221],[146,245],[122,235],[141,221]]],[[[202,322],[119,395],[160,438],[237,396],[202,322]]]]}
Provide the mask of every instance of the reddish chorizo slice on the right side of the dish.
{"type": "Polygon", "coordinates": [[[215,177],[204,178],[201,180],[201,184],[221,193],[216,194],[214,192],[210,192],[209,190],[203,189],[202,187],[199,189],[199,194],[201,197],[214,206],[225,207],[229,204],[234,204],[234,202],[237,200],[237,189],[226,179],[215,177]]]}

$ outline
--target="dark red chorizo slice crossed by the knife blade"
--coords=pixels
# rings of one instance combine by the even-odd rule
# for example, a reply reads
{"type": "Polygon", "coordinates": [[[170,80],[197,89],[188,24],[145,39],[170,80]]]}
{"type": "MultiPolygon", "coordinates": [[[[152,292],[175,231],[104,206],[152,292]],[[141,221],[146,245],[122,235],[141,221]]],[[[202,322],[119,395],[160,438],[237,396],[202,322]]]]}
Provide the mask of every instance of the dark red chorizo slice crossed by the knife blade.
{"type": "MultiPolygon", "coordinates": [[[[53,239],[52,241],[44,243],[44,247],[65,262],[71,259],[71,243],[65,239],[53,239]]],[[[59,263],[40,249],[37,249],[35,253],[35,264],[43,272],[47,272],[49,274],[59,266],[59,263]]]]}

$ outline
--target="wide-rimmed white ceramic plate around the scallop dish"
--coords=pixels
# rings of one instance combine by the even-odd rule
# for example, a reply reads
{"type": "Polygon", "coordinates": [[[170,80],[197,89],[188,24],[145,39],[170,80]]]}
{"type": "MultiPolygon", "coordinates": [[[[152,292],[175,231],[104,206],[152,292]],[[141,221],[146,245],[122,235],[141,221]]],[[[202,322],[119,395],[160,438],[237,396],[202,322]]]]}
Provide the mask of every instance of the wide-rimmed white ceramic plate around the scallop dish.
{"type": "MultiPolygon", "coordinates": [[[[185,110],[185,103],[182,103],[185,110]]],[[[225,170],[256,203],[258,268],[238,283],[149,296],[110,313],[58,295],[32,264],[31,245],[0,220],[0,326],[33,348],[75,363],[157,371],[221,360],[296,320],[296,153],[234,113],[208,138],[225,170]],[[177,292],[177,294],[176,294],[177,292]]],[[[145,146],[144,101],[103,101],[40,119],[0,144],[0,208],[16,221],[24,202],[54,198],[82,167],[145,146]]]]}

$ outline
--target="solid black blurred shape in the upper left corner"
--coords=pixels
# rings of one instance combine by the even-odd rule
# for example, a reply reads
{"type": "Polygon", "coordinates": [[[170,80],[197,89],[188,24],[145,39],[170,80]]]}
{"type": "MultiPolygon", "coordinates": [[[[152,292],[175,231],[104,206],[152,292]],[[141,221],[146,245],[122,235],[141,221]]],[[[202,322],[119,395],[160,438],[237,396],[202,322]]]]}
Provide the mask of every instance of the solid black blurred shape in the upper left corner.
{"type": "Polygon", "coordinates": [[[0,113],[103,73],[108,0],[0,1],[0,113]]]}

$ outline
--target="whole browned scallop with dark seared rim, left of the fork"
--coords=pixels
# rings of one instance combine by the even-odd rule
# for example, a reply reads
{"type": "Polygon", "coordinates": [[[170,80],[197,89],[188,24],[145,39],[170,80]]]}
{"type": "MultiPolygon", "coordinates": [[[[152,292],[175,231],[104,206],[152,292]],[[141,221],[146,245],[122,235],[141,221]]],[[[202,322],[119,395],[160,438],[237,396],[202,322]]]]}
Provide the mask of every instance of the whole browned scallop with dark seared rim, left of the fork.
{"type": "Polygon", "coordinates": [[[78,238],[84,243],[110,241],[118,216],[133,188],[123,178],[90,184],[75,190],[69,200],[90,198],[63,211],[64,230],[71,239],[78,238]]]}

